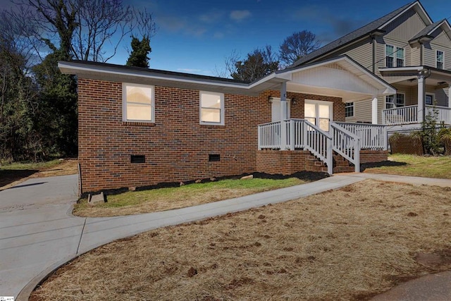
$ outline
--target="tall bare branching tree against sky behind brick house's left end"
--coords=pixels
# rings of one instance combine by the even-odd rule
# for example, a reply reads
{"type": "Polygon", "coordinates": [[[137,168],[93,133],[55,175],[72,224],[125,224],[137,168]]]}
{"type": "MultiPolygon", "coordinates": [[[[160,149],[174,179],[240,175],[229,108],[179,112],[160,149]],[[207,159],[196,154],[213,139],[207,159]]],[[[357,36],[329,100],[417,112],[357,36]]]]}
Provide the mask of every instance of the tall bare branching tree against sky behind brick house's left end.
{"type": "Polygon", "coordinates": [[[17,1],[21,14],[26,15],[22,18],[35,28],[24,35],[37,36],[51,51],[61,51],[67,59],[106,62],[134,30],[148,37],[156,32],[152,14],[125,5],[123,0],[17,1]]]}

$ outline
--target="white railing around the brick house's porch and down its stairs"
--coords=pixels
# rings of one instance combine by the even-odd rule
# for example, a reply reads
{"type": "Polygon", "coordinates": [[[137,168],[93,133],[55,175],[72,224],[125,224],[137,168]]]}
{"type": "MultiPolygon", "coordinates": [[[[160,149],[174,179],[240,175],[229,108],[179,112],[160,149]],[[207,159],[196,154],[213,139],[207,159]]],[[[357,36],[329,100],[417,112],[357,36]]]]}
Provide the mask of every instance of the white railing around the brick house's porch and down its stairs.
{"type": "MultiPolygon", "coordinates": [[[[360,171],[360,136],[371,137],[381,132],[382,127],[358,128],[350,125],[344,128],[345,123],[330,123],[330,133],[327,133],[304,119],[289,119],[286,121],[265,123],[259,125],[259,149],[307,149],[318,159],[326,163],[328,173],[333,173],[333,151],[345,157],[355,166],[355,171],[360,171]],[[283,127],[283,128],[281,128],[283,127]],[[360,135],[353,133],[359,129],[360,135]],[[371,132],[372,130],[372,132],[371,132]],[[280,137],[286,133],[285,139],[280,137]]],[[[379,140],[373,137],[367,139],[366,144],[374,149],[380,149],[379,140]]]]}

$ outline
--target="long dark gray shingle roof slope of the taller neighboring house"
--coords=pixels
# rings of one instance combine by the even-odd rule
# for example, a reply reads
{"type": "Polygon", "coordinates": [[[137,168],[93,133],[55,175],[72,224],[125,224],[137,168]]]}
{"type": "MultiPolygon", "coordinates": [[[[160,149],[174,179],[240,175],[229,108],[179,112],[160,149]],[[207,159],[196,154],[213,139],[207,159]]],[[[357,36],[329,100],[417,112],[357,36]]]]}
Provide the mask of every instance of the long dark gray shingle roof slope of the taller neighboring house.
{"type": "Polygon", "coordinates": [[[408,8],[412,4],[414,4],[416,1],[411,2],[409,4],[406,4],[400,8],[397,8],[397,10],[392,11],[391,13],[388,13],[387,15],[383,16],[382,18],[378,18],[377,20],[374,20],[373,22],[364,25],[363,27],[360,27],[357,30],[354,30],[353,32],[348,33],[347,35],[340,37],[340,39],[335,39],[335,41],[330,42],[326,46],[321,47],[320,49],[317,49],[306,56],[303,56],[301,59],[295,61],[295,63],[292,64],[290,67],[295,67],[302,65],[304,63],[307,63],[313,59],[316,59],[318,56],[322,56],[323,54],[327,54],[330,51],[333,51],[334,49],[337,49],[338,47],[342,47],[345,44],[348,44],[355,39],[359,39],[360,37],[363,37],[364,35],[369,35],[370,32],[373,32],[378,29],[378,27],[381,27],[383,24],[387,23],[389,20],[397,16],[399,13],[404,11],[404,9],[408,8]]]}

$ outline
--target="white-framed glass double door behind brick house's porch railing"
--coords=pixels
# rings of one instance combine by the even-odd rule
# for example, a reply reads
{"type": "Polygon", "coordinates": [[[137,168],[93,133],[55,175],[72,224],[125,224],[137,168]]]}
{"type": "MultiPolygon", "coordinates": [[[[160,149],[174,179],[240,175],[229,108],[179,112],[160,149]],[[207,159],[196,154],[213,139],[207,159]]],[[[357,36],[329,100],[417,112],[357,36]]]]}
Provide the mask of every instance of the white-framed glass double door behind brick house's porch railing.
{"type": "Polygon", "coordinates": [[[330,121],[333,119],[333,102],[306,99],[304,118],[328,132],[330,121]]]}

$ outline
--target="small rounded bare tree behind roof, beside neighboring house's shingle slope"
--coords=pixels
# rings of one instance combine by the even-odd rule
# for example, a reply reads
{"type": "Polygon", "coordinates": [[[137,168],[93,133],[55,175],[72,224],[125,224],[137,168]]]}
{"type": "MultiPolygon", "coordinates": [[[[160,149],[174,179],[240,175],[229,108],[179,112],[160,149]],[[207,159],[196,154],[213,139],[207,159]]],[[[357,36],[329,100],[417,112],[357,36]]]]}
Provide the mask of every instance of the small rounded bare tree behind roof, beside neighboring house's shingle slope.
{"type": "Polygon", "coordinates": [[[321,42],[316,40],[316,35],[308,30],[295,32],[283,40],[279,48],[279,59],[284,66],[290,66],[302,56],[319,49],[321,42]]]}

